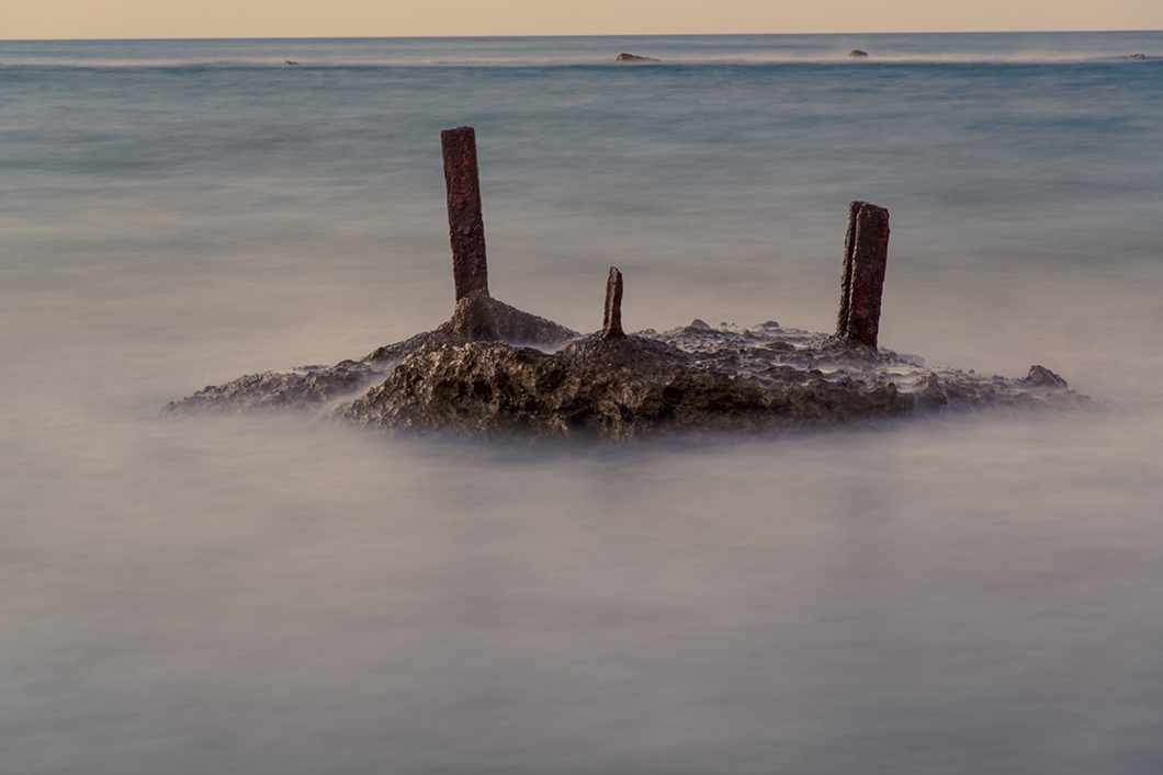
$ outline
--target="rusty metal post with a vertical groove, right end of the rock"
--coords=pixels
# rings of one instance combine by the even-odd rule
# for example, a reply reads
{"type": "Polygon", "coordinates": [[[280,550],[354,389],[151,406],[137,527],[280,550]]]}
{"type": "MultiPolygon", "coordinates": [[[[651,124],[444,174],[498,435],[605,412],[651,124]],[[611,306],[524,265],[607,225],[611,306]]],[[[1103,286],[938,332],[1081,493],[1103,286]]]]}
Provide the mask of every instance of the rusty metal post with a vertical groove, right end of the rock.
{"type": "Polygon", "coordinates": [[[887,263],[889,210],[868,202],[852,202],[848,208],[848,235],[844,238],[844,267],[836,320],[839,336],[870,347],[877,346],[887,263]]]}

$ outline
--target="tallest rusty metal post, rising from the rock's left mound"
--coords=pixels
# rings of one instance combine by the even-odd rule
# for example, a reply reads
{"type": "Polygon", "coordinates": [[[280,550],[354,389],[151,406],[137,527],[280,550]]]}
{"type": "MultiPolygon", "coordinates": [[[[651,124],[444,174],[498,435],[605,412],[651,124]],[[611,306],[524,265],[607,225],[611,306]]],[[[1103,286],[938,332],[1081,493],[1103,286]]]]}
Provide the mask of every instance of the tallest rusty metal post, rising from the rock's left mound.
{"type": "Polygon", "coordinates": [[[477,134],[472,127],[440,134],[448,189],[448,235],[452,243],[456,300],[473,292],[488,295],[485,260],[485,222],[480,215],[480,174],[477,170],[477,134]]]}

